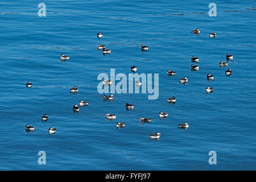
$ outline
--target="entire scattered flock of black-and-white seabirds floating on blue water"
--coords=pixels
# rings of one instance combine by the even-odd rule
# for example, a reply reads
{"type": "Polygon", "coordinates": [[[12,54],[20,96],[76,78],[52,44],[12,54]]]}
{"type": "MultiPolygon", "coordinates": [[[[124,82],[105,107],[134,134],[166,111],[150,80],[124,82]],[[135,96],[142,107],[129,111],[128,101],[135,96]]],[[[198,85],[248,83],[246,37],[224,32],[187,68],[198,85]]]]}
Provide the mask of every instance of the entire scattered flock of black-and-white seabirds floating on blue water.
{"type": "MultiPolygon", "coordinates": [[[[199,34],[200,34],[200,30],[199,30],[199,28],[196,28],[196,30],[192,30],[191,33],[192,33],[192,34],[199,35],[199,34]]],[[[97,36],[98,36],[98,38],[100,39],[100,38],[102,38],[103,34],[102,34],[101,32],[99,32],[99,33],[97,34],[97,36]]],[[[216,37],[216,32],[213,32],[212,34],[209,34],[209,38],[215,38],[215,37],[216,37]]],[[[98,49],[101,49],[101,50],[102,50],[102,53],[103,53],[104,55],[105,55],[106,53],[111,53],[111,49],[106,49],[106,48],[105,48],[105,45],[99,44],[97,47],[98,47],[98,49]]],[[[142,51],[148,51],[148,46],[144,46],[144,45],[142,44],[142,45],[141,45],[141,49],[142,49],[142,51]]],[[[68,60],[68,59],[69,59],[69,56],[61,55],[61,56],[60,56],[60,59],[61,59],[61,61],[65,61],[65,60],[68,60]]],[[[233,56],[232,56],[232,55],[229,55],[229,53],[227,53],[227,54],[226,54],[226,61],[227,61],[227,62],[220,61],[220,67],[227,67],[229,60],[233,60],[233,56]]],[[[192,61],[193,63],[199,63],[199,57],[194,57],[194,56],[192,56],[192,57],[191,57],[191,61],[192,61]]],[[[192,71],[199,71],[199,66],[192,64],[192,65],[191,65],[191,70],[192,70],[192,71]]],[[[135,65],[132,66],[132,67],[131,67],[131,71],[135,73],[135,72],[137,71],[137,67],[136,67],[135,65]]],[[[231,69],[226,70],[225,73],[226,73],[226,76],[232,75],[231,69]]],[[[167,75],[168,75],[168,76],[173,76],[173,75],[176,75],[176,72],[171,71],[170,69],[168,69],[167,75]]],[[[208,74],[208,75],[207,75],[207,79],[208,79],[208,80],[214,80],[214,76],[208,74]]],[[[187,82],[188,82],[188,78],[187,78],[187,77],[180,78],[180,83],[181,83],[181,84],[187,84],[187,82]]],[[[103,84],[104,84],[104,86],[106,86],[106,85],[111,85],[111,84],[112,84],[112,81],[111,81],[111,80],[103,80],[103,84]]],[[[135,81],[135,84],[138,85],[138,86],[141,86],[141,82],[140,82],[140,81],[135,81]]],[[[28,81],[27,84],[26,84],[26,86],[27,86],[27,88],[31,88],[31,87],[32,87],[31,82],[28,81]]],[[[211,93],[211,92],[213,92],[213,87],[207,86],[207,88],[205,89],[205,91],[206,91],[207,93],[211,93]]],[[[77,86],[74,86],[73,88],[71,88],[71,89],[70,89],[70,92],[76,94],[76,93],[78,92],[77,86]]],[[[104,97],[104,100],[113,100],[114,95],[113,95],[113,94],[110,94],[110,96],[104,95],[103,97],[104,97]]],[[[175,97],[167,98],[167,102],[171,102],[172,104],[175,104],[176,98],[175,98],[175,97]]],[[[89,102],[87,102],[87,101],[82,101],[82,100],[79,101],[79,106],[80,106],[80,107],[85,106],[85,105],[88,105],[88,104],[89,104],[89,102]]],[[[74,113],[79,112],[79,106],[78,106],[78,105],[74,105],[74,106],[73,106],[73,112],[74,112],[74,113]]],[[[126,109],[127,109],[127,110],[129,110],[129,109],[134,109],[134,105],[131,105],[131,104],[126,103],[126,109]]],[[[106,114],[106,117],[107,117],[108,120],[110,120],[110,119],[115,119],[117,116],[116,116],[115,114],[109,114],[109,113],[108,113],[108,114],[106,114]]],[[[162,111],[160,111],[159,117],[160,117],[160,118],[168,117],[168,113],[163,113],[162,111]]],[[[47,120],[48,120],[48,115],[47,115],[47,114],[44,114],[44,115],[42,116],[42,121],[46,122],[47,120]]],[[[151,122],[151,118],[141,118],[141,123],[148,123],[148,122],[151,122]]],[[[125,125],[126,125],[125,123],[117,122],[117,129],[120,129],[121,127],[125,127],[125,125]]],[[[185,122],[185,123],[180,123],[180,124],[178,125],[178,127],[181,128],[181,129],[185,129],[185,130],[186,130],[186,129],[188,129],[188,123],[187,123],[187,122],[185,122]]],[[[34,131],[34,130],[35,130],[35,127],[34,127],[34,126],[26,125],[26,126],[25,126],[25,129],[26,129],[27,132],[29,132],[29,131],[34,131]]],[[[48,133],[49,133],[49,134],[54,134],[55,132],[56,132],[56,128],[50,127],[50,128],[48,129],[48,133]]],[[[151,134],[151,135],[150,135],[150,139],[159,140],[159,139],[160,139],[160,135],[161,135],[161,133],[151,134]]]]}

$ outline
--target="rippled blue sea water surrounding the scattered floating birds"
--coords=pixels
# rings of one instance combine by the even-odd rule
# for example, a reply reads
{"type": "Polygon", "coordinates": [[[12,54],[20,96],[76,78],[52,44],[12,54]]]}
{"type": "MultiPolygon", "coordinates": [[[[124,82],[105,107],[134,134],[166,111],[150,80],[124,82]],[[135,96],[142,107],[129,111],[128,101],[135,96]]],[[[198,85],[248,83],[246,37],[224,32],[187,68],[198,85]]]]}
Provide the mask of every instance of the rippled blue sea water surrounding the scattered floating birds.
{"type": "Polygon", "coordinates": [[[211,2],[1,1],[0,169],[255,170],[256,2],[214,1],[217,16],[210,17],[211,2]],[[38,16],[40,2],[46,17],[38,16]],[[191,34],[197,27],[199,36],[191,34]],[[98,44],[112,53],[102,55],[98,44]],[[61,62],[62,53],[71,58],[61,62]],[[234,60],[220,68],[226,53],[234,60]],[[200,57],[198,72],[189,68],[191,56],[200,57]],[[159,98],[114,93],[104,102],[98,74],[114,68],[128,75],[132,65],[159,73],[159,98]],[[179,84],[184,76],[187,85],[179,84]],[[69,93],[75,85],[79,92],[69,93]],[[205,93],[207,86],[214,92],[205,93]],[[172,96],[174,105],[166,103],[172,96]],[[89,105],[74,114],[80,100],[89,105]],[[135,109],[126,110],[126,102],[135,109]],[[168,118],[161,121],[160,111],[168,118]],[[117,119],[106,121],[106,113],[117,119]],[[152,123],[142,125],[141,117],[152,123]],[[117,122],[126,127],[117,130],[117,122]],[[188,130],[178,129],[184,122],[188,130]],[[35,131],[26,133],[26,124],[35,131]],[[49,127],[56,133],[49,135],[49,127]],[[156,132],[161,139],[150,140],[156,132]],[[46,165],[38,164],[39,151],[46,165]],[[216,151],[216,165],[208,163],[209,151],[216,151]]]}

